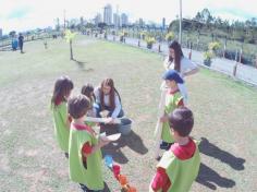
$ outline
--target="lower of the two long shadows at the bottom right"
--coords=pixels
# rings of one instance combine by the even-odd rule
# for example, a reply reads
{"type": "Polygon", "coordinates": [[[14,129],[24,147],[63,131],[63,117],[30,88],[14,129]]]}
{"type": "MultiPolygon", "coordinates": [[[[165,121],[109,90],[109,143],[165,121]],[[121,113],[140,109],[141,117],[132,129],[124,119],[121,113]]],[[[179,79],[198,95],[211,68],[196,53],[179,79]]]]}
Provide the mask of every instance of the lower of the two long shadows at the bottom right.
{"type": "Polygon", "coordinates": [[[196,181],[211,190],[216,190],[217,185],[221,188],[233,188],[235,185],[235,181],[221,177],[205,164],[200,164],[199,175],[196,181]]]}

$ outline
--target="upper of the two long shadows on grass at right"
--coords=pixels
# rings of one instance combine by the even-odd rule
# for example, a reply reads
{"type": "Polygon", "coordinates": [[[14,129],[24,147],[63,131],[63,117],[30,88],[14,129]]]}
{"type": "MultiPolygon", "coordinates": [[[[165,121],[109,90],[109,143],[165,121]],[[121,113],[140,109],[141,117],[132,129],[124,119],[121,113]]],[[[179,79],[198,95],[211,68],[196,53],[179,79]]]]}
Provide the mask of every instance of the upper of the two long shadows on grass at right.
{"type": "Polygon", "coordinates": [[[230,165],[235,170],[244,170],[245,159],[235,157],[234,155],[222,151],[218,146],[210,143],[207,139],[201,137],[201,142],[199,144],[200,153],[211,156],[213,158],[219,159],[222,163],[230,165]]]}

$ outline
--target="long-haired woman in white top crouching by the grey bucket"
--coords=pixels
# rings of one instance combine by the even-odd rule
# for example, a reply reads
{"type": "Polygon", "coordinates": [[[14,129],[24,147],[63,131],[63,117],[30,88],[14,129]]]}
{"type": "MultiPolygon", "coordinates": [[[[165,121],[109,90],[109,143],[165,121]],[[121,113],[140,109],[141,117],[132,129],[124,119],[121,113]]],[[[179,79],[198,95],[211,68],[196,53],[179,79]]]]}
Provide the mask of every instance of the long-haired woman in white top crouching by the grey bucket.
{"type": "Polygon", "coordinates": [[[124,116],[121,105],[121,97],[114,87],[112,79],[106,79],[101,82],[100,86],[95,89],[96,104],[94,107],[97,117],[101,117],[101,111],[108,111],[107,117],[109,123],[114,123],[115,118],[124,116]]]}

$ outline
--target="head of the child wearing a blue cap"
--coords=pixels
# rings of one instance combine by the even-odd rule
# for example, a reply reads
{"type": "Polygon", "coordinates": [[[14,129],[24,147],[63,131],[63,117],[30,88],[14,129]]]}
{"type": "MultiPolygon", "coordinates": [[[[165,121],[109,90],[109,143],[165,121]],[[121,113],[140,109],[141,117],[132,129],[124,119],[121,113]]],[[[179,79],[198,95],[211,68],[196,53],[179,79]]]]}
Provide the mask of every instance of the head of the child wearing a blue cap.
{"type": "Polygon", "coordinates": [[[176,88],[178,83],[184,83],[184,81],[175,70],[166,71],[162,79],[166,80],[166,85],[169,88],[176,88]]]}

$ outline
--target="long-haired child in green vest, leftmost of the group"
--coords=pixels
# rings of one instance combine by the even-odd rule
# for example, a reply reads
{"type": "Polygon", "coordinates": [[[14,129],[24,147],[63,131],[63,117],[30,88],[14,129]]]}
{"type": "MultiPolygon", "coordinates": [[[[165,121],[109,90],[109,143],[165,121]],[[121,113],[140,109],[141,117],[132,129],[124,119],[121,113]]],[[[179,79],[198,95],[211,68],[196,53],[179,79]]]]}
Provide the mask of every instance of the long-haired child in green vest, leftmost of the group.
{"type": "Polygon", "coordinates": [[[56,81],[51,98],[51,109],[54,122],[54,133],[60,148],[68,157],[70,121],[66,101],[73,89],[73,82],[68,76],[61,76],[56,81]]]}

